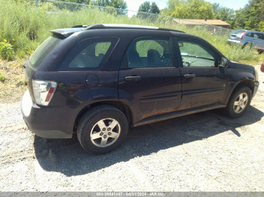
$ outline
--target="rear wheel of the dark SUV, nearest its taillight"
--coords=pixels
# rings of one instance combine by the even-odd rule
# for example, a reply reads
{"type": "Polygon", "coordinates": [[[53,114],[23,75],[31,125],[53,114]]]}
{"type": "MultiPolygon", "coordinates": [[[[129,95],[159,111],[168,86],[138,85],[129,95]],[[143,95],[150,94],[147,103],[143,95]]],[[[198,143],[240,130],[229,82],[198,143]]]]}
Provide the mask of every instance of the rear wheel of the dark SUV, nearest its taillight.
{"type": "Polygon", "coordinates": [[[82,148],[90,153],[103,154],[116,149],[128,133],[126,116],[116,107],[101,105],[87,111],[77,126],[82,148]]]}

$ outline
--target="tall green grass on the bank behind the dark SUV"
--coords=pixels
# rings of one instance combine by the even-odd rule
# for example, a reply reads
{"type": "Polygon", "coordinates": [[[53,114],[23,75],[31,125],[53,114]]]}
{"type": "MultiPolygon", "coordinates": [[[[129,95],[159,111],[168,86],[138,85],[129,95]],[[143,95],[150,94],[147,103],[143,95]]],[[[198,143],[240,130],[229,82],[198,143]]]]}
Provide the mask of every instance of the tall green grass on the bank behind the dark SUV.
{"type": "Polygon", "coordinates": [[[93,23],[148,25],[183,30],[207,40],[230,60],[254,63],[264,59],[264,55],[257,54],[256,50],[227,45],[227,36],[211,35],[206,30],[201,31],[186,26],[166,26],[165,24],[168,23],[165,22],[151,23],[136,17],[109,14],[108,11],[99,11],[98,8],[83,8],[76,12],[58,11],[49,3],[37,10],[34,1],[28,3],[14,0],[0,1],[0,24],[2,24],[0,40],[6,39],[7,42],[12,43],[16,59],[31,55],[33,50],[51,35],[49,30],[93,23]]]}

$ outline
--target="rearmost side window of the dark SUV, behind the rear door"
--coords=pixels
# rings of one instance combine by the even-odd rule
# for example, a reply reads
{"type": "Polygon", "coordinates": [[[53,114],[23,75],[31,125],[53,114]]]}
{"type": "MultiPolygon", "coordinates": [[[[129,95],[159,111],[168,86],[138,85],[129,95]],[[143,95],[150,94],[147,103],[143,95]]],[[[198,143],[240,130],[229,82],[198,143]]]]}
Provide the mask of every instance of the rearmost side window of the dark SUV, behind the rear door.
{"type": "Polygon", "coordinates": [[[57,71],[99,70],[110,56],[118,37],[97,37],[80,41],[62,60],[57,71]]]}

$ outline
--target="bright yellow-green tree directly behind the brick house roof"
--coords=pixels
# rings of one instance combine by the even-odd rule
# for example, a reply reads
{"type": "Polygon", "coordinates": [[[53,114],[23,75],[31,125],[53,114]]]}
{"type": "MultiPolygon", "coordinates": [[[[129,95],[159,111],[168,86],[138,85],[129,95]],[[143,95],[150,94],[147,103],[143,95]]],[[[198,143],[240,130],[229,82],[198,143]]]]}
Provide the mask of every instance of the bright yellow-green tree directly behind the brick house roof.
{"type": "Polygon", "coordinates": [[[204,0],[180,0],[171,16],[188,19],[212,19],[214,16],[212,6],[204,0]]]}

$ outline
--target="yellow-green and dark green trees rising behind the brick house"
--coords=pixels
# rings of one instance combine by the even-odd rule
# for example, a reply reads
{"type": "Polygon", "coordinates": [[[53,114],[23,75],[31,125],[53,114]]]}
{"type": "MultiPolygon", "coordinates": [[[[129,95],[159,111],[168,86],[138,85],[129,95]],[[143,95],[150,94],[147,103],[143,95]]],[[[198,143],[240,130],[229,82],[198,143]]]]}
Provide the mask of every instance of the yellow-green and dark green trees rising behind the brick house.
{"type": "Polygon", "coordinates": [[[230,29],[264,31],[264,0],[249,0],[239,10],[204,0],[168,0],[167,7],[161,10],[161,14],[185,19],[207,17],[229,23],[230,29]]]}

